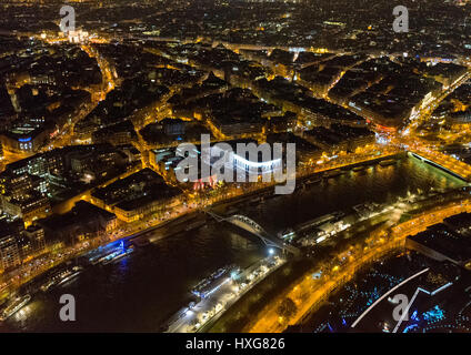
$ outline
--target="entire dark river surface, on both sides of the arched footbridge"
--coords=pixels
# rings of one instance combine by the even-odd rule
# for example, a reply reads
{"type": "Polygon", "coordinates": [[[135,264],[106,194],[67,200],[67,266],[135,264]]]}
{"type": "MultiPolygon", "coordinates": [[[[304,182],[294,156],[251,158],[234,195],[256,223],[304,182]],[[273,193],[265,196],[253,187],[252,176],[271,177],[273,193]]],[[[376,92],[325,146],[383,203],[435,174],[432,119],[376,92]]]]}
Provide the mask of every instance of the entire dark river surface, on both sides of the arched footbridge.
{"type": "MultiPolygon", "coordinates": [[[[392,202],[408,193],[461,184],[434,168],[404,159],[395,165],[345,172],[292,195],[245,204],[239,213],[275,233],[359,203],[392,202]]],[[[248,265],[265,253],[258,242],[248,242],[232,227],[211,222],[140,248],[117,264],[90,267],[68,285],[34,295],[27,307],[0,325],[0,332],[157,332],[188,304],[189,290],[201,277],[229,263],[248,265]],[[59,297],[64,293],[76,297],[76,322],[59,320],[59,297]]]]}

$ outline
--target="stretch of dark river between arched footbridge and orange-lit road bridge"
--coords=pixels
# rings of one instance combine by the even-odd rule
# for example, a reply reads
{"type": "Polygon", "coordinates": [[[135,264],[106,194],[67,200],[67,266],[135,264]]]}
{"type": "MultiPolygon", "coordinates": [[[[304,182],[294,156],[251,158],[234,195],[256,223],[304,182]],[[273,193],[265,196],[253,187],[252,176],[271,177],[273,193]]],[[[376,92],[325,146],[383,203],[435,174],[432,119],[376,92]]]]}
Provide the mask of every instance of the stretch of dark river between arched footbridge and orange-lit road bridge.
{"type": "Polygon", "coordinates": [[[305,222],[335,211],[351,212],[355,204],[388,203],[400,196],[424,194],[463,185],[463,182],[427,163],[405,158],[395,165],[373,165],[370,169],[348,171],[334,179],[309,185],[308,191],[267,200],[259,207],[245,209],[267,231],[305,222]]]}

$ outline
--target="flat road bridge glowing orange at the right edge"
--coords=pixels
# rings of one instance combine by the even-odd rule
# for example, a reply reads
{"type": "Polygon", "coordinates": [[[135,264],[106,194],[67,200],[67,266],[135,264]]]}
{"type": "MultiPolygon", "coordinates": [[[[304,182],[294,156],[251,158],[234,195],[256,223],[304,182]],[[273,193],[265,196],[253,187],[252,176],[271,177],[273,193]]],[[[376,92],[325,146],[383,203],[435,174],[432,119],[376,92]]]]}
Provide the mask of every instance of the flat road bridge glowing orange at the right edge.
{"type": "Polygon", "coordinates": [[[421,150],[420,152],[410,151],[409,154],[421,160],[422,162],[441,169],[458,179],[461,179],[465,182],[471,182],[471,166],[450,155],[425,150],[421,150]]]}

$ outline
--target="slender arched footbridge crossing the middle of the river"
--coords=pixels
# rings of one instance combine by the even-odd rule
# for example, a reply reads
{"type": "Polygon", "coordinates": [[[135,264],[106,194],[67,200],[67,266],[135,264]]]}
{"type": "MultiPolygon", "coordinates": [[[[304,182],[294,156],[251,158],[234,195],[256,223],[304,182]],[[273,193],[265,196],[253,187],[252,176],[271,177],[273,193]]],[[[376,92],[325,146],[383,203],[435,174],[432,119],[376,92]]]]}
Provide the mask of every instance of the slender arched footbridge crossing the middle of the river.
{"type": "Polygon", "coordinates": [[[206,211],[209,215],[214,217],[218,222],[229,222],[253,235],[259,237],[267,246],[273,246],[281,250],[284,250],[287,252],[290,252],[293,255],[299,255],[300,251],[299,248],[285,244],[282,240],[275,236],[269,235],[255,221],[249,219],[248,216],[241,215],[241,214],[234,214],[229,217],[222,217],[213,212],[206,211]]]}

